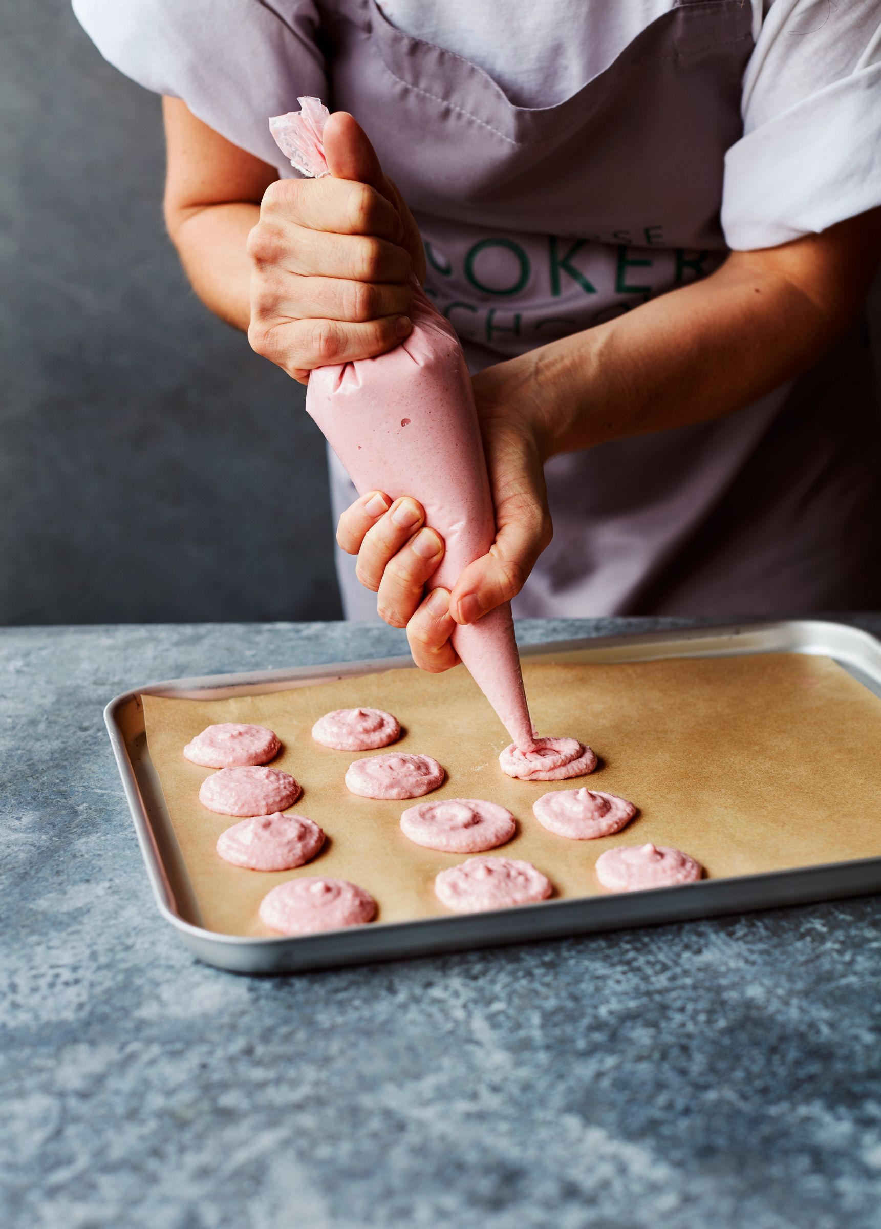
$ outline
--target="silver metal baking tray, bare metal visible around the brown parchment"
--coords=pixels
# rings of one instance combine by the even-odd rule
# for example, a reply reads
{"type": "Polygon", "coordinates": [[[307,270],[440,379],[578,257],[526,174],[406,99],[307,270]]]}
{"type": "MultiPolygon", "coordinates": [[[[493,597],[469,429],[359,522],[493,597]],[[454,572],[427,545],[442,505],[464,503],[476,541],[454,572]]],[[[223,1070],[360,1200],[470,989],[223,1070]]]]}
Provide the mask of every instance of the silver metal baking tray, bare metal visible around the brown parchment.
{"type": "MultiPolygon", "coordinates": [[[[585,662],[800,653],[832,658],[881,696],[881,643],[842,623],[786,621],[590,637],[530,645],[526,659],[579,651],[585,662]]],[[[457,951],[533,939],[858,896],[881,890],[881,858],[709,879],[682,887],[549,901],[495,913],[375,923],[300,938],[225,935],[193,924],[198,909],[146,745],[140,696],[226,699],[415,669],[409,656],[155,682],[112,699],[104,720],[160,913],[200,959],[242,973],[285,973],[402,956],[457,951]]]]}

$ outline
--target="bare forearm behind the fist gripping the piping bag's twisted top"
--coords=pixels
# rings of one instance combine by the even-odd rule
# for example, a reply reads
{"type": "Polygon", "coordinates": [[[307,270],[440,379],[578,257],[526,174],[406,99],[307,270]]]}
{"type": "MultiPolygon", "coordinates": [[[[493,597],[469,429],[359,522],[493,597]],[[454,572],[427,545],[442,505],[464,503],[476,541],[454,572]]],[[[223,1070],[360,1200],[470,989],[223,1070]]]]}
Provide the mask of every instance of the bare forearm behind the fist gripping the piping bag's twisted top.
{"type": "Polygon", "coordinates": [[[168,231],[193,290],[215,316],[247,332],[251,262],[246,243],[259,205],[232,202],[168,219],[168,231]]]}

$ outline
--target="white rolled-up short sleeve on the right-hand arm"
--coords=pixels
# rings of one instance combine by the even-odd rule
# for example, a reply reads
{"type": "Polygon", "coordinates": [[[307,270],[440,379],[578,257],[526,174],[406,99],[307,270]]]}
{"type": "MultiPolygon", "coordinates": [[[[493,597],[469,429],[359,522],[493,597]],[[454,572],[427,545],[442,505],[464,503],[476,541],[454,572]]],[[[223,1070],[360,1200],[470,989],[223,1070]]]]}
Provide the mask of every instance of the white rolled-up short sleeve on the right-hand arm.
{"type": "Polygon", "coordinates": [[[773,0],[742,114],[725,157],[729,247],[775,247],[881,205],[877,0],[773,0]]]}

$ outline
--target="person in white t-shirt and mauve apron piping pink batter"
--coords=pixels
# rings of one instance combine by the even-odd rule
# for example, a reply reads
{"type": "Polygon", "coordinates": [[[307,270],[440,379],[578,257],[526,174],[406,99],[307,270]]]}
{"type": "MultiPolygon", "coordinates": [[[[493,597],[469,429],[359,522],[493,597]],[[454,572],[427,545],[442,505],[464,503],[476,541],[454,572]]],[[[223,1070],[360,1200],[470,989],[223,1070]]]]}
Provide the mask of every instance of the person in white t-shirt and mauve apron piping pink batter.
{"type": "Polygon", "coordinates": [[[457,328],[496,541],[425,594],[444,543],[420,506],[353,501],[332,456],[350,617],[376,601],[442,670],[453,621],[506,599],[881,605],[879,0],[74,9],[163,95],[171,238],[258,353],[301,382],[383,353],[412,272],[457,328]],[[342,112],[332,178],[270,136],[302,95],[342,112]]]}

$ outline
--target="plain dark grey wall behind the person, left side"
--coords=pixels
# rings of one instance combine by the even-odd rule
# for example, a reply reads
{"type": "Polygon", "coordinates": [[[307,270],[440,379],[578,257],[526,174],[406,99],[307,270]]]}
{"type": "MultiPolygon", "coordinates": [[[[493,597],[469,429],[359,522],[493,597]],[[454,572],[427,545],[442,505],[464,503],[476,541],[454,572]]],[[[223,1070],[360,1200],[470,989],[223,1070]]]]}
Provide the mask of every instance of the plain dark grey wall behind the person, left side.
{"type": "Polygon", "coordinates": [[[188,290],[68,0],[0,0],[0,624],[338,617],[302,390],[188,290]]]}

